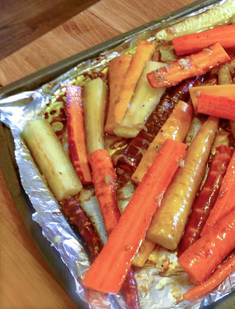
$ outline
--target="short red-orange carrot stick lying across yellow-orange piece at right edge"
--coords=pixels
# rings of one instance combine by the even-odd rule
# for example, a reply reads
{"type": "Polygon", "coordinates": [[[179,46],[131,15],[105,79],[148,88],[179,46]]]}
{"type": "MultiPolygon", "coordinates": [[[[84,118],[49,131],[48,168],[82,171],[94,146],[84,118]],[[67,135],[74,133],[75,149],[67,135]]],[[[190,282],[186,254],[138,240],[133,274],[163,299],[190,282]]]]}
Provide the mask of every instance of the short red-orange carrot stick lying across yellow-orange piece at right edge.
{"type": "Polygon", "coordinates": [[[202,114],[235,119],[235,100],[201,92],[197,100],[197,111],[202,114]]]}

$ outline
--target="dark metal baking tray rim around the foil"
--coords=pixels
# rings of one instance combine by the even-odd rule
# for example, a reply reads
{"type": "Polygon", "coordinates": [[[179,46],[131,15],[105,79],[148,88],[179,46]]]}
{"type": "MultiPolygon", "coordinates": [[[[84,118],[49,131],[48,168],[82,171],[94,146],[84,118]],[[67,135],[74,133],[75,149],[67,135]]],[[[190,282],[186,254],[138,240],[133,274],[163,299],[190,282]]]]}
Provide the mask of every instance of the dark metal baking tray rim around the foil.
{"type": "MultiPolygon", "coordinates": [[[[48,66],[42,70],[39,70],[33,74],[30,74],[18,81],[15,81],[7,86],[0,88],[0,99],[14,95],[22,91],[35,90],[42,86],[43,84],[55,79],[64,72],[73,68],[82,61],[92,59],[97,57],[104,50],[109,50],[115,46],[121,44],[123,41],[129,39],[132,36],[136,36],[142,32],[149,30],[152,27],[165,27],[168,24],[174,23],[179,18],[183,18],[185,15],[193,13],[204,6],[208,6],[218,2],[217,0],[198,0],[184,6],[183,8],[176,10],[170,14],[167,14],[159,19],[155,19],[149,23],[146,23],[138,28],[135,28],[129,32],[121,34],[115,38],[112,38],[106,42],[103,42],[97,46],[87,49],[81,53],[78,53],[72,57],[64,59],[56,64],[48,66]]],[[[26,193],[20,182],[18,168],[14,159],[14,143],[11,136],[10,130],[3,124],[0,125],[0,167],[12,199],[19,211],[19,214],[27,227],[32,239],[37,245],[39,251],[47,261],[47,264],[51,267],[52,271],[55,273],[60,285],[66,290],[68,295],[72,298],[74,303],[81,309],[85,308],[84,302],[80,299],[80,296],[76,294],[76,287],[72,275],[68,271],[66,265],[60,259],[60,255],[57,250],[51,247],[50,243],[45,237],[43,237],[41,227],[32,220],[32,214],[34,213],[34,208],[29,201],[26,193]]],[[[231,304],[235,302],[233,294],[229,294],[222,299],[222,307],[219,308],[230,308],[231,304]],[[224,299],[227,298],[225,301],[224,299]],[[233,300],[234,299],[234,300],[233,300]],[[231,303],[232,301],[232,303],[231,303]],[[227,305],[226,305],[227,303],[227,305]],[[230,305],[229,305],[230,303],[230,305]]],[[[204,308],[217,308],[218,303],[221,300],[204,308]]],[[[235,308],[235,307],[234,307],[235,308]]]]}

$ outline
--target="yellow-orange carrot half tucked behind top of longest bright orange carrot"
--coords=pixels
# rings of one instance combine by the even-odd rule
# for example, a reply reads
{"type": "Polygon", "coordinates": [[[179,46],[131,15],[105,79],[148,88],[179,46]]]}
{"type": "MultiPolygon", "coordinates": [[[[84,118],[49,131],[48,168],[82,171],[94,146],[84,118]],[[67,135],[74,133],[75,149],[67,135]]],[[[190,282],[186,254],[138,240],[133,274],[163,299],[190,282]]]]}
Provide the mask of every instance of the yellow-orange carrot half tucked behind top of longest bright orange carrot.
{"type": "Polygon", "coordinates": [[[143,176],[153,163],[167,138],[178,142],[183,142],[192,121],[192,113],[193,108],[191,105],[188,105],[183,101],[179,101],[170,117],[167,119],[155,139],[150,144],[149,148],[146,150],[136,171],[132,175],[131,178],[136,184],[143,179],[143,176]]]}

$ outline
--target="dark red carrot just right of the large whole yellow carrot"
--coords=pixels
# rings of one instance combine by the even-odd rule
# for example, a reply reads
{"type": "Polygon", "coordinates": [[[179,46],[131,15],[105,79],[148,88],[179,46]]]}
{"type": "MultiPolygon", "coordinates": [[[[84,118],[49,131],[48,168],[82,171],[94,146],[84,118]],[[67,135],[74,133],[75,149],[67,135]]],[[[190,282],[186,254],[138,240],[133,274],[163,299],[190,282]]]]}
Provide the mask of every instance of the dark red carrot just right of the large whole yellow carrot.
{"type": "Polygon", "coordinates": [[[198,195],[196,203],[193,205],[183,237],[180,240],[177,250],[178,256],[199,239],[209,213],[215,205],[232,155],[233,149],[228,146],[221,145],[216,149],[216,154],[212,160],[207,179],[198,195]]]}

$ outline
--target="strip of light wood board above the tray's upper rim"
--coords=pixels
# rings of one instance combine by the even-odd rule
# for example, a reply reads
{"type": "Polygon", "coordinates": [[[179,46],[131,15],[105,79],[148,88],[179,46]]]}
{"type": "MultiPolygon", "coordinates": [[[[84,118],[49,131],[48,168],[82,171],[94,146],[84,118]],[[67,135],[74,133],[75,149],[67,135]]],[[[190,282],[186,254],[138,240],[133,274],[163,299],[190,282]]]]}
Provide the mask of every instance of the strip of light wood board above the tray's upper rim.
{"type": "Polygon", "coordinates": [[[102,0],[0,61],[6,85],[43,67],[97,45],[192,0],[102,0]]]}

